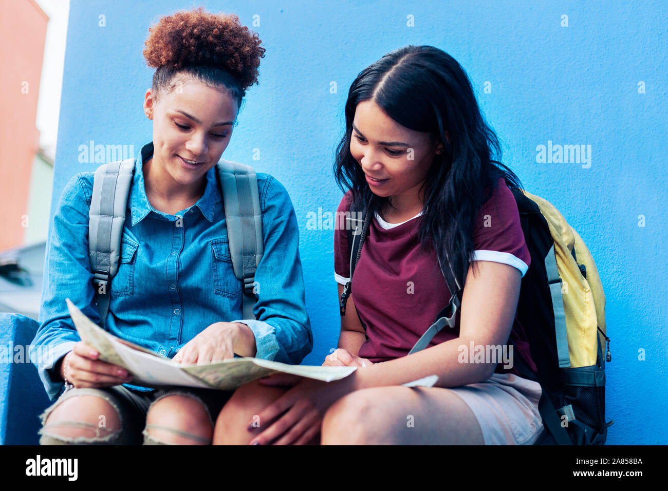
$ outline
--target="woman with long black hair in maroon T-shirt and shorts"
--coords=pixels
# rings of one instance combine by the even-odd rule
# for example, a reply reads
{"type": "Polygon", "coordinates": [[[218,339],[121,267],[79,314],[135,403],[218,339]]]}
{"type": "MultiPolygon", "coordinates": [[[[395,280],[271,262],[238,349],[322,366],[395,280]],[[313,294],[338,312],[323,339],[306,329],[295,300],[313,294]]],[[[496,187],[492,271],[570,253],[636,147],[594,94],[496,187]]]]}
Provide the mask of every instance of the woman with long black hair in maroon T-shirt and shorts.
{"type": "MultiPolygon", "coordinates": [[[[468,76],[444,51],[403,47],[357,75],[334,168],[345,192],[338,211],[367,208],[372,218],[339,349],[323,363],[357,369],[330,383],[276,374],[240,387],[214,443],[538,440],[540,385],[501,359],[462,356],[510,337],[536,369],[516,319],[531,261],[509,188],[520,182],[495,154],[468,76]],[[455,293],[448,284],[463,285],[454,327],[407,356],[455,293]],[[430,375],[433,385],[403,385],[430,375]]],[[[351,279],[346,230],[334,246],[340,297],[351,279]]]]}

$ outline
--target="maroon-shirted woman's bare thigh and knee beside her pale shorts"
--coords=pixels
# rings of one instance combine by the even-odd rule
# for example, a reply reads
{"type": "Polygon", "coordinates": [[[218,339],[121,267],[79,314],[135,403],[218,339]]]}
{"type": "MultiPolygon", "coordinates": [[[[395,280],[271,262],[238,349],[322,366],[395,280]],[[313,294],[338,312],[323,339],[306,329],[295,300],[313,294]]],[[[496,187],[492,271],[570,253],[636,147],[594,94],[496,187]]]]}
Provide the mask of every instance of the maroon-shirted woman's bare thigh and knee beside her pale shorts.
{"type": "Polygon", "coordinates": [[[484,445],[470,407],[442,387],[372,387],[336,401],[323,419],[323,444],[484,445]]]}

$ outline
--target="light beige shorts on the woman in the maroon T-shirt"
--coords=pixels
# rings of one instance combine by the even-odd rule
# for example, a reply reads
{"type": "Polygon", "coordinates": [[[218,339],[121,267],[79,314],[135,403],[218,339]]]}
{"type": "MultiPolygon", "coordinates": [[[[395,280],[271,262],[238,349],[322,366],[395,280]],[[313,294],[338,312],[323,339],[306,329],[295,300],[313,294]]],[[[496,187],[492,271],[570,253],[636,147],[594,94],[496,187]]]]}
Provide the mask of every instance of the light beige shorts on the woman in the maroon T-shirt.
{"type": "Polygon", "coordinates": [[[538,411],[538,382],[494,373],[484,382],[450,387],[478,419],[485,445],[533,445],[544,426],[538,411]]]}

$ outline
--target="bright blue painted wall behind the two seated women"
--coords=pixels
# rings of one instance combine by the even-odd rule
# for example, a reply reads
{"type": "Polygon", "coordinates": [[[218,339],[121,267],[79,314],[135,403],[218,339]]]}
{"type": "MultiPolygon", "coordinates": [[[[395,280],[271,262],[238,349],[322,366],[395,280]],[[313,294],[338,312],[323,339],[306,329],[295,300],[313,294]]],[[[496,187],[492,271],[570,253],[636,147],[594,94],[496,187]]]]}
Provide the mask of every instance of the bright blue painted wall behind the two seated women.
{"type": "MultiPolygon", "coordinates": [[[[559,4],[203,1],[209,11],[237,13],[267,49],[260,85],[248,91],[224,156],[273,174],[293,198],[316,340],[305,363],[319,364],[336,346],[339,328],[333,231],[307,230],[307,213],[334,211],[341,198],[331,164],[349,85],[402,45],[448,51],[468,71],[503,142],[504,162],[530,192],[561,210],[597,262],[612,339],[609,444],[667,444],[668,282],[661,246],[668,242],[668,171],[661,149],[668,134],[668,4],[559,4]],[[259,27],[252,26],[256,14],[259,27]],[[591,166],[537,162],[536,147],[548,141],[591,145],[591,166]],[[260,160],[253,160],[254,148],[260,160]]],[[[193,5],[200,4],[71,1],[54,204],[70,176],[98,166],[79,162],[80,145],[134,145],[136,153],[150,140],[142,111],[152,77],[142,57],[148,27],[193,5]]]]}

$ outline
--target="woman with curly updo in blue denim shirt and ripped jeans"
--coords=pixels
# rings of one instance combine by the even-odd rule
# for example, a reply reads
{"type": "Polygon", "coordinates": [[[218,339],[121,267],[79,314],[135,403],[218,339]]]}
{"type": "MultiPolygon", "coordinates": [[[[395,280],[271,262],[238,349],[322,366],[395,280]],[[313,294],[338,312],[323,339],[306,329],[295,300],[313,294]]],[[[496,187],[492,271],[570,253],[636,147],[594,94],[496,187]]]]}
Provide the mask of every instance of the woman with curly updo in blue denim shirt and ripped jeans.
{"type": "MultiPolygon", "coordinates": [[[[257,174],[264,239],[257,319],[242,319],[241,285],[229,259],[214,166],[264,52],[236,15],[201,8],[162,17],[146,40],[146,61],[156,68],[144,98],[153,138],[134,167],[106,329],[182,363],[234,353],[299,363],[313,345],[295,212],[267,174],[257,174]]],[[[100,321],[88,258],[93,177],[71,178],[53,222],[51,283],[33,347],[49,347],[52,355],[37,364],[49,397],[67,388],[41,415],[40,443],[136,444],[143,434],[144,444],[210,444],[230,391],[132,385],[72,325],[66,297],[100,321]]]]}

